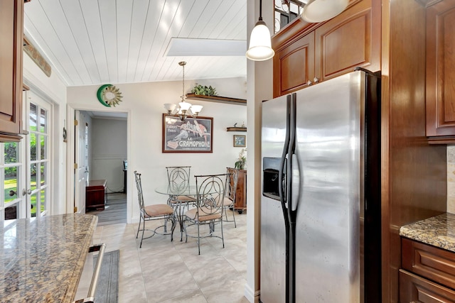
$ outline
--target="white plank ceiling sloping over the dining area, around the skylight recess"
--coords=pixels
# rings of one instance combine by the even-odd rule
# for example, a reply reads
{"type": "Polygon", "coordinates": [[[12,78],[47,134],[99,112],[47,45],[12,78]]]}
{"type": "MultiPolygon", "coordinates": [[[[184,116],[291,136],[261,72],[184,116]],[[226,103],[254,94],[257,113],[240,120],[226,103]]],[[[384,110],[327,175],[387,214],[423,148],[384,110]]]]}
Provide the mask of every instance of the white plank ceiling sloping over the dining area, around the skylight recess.
{"type": "MultiPolygon", "coordinates": [[[[245,55],[166,56],[171,38],[247,39],[247,0],[33,0],[24,34],[68,86],[246,77],[245,55]]],[[[246,42],[245,42],[246,51],[246,42]]]]}

